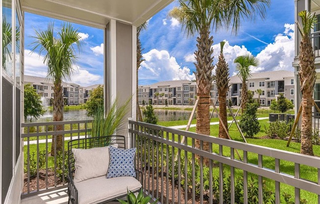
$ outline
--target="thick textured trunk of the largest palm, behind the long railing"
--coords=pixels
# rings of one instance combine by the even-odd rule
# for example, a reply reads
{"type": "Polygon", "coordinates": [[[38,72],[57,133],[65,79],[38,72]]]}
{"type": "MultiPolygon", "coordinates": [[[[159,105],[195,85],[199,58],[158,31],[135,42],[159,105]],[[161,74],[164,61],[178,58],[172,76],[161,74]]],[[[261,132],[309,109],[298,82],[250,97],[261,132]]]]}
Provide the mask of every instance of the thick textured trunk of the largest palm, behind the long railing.
{"type": "MultiPolygon", "coordinates": [[[[210,89],[212,84],[213,66],[213,36],[209,36],[210,32],[207,27],[200,31],[200,36],[197,37],[197,48],[195,56],[197,63],[195,64],[197,72],[194,73],[197,81],[197,96],[199,104],[197,108],[197,123],[196,132],[199,134],[210,135],[210,89]]],[[[195,141],[195,147],[200,148],[200,141],[195,141]]],[[[209,151],[209,144],[203,142],[202,149],[209,151]]],[[[199,156],[197,156],[199,158],[199,156]]],[[[205,159],[204,163],[209,164],[209,160],[205,159]]]]}

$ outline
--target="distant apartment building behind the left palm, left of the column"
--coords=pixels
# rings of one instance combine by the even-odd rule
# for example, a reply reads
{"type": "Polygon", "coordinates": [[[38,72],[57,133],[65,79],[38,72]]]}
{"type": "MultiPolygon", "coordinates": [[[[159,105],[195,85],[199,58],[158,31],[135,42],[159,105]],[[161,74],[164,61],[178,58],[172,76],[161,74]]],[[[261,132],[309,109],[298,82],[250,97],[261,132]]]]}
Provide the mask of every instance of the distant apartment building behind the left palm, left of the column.
{"type": "MultiPolygon", "coordinates": [[[[51,105],[53,98],[53,81],[43,77],[25,76],[25,84],[31,84],[36,89],[37,94],[43,98],[44,105],[51,105]]],[[[83,87],[76,83],[62,82],[63,98],[67,105],[78,105],[84,103],[83,87]]]]}

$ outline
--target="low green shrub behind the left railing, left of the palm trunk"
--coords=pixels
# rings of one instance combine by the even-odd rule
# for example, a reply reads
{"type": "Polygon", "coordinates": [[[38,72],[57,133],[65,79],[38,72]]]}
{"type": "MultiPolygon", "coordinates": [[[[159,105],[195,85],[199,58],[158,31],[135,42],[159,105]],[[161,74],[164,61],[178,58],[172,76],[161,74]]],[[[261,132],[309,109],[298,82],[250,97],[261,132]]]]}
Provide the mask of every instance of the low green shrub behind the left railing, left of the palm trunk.
{"type": "MultiPolygon", "coordinates": [[[[37,155],[36,152],[32,152],[29,155],[29,171],[30,177],[35,177],[37,172],[44,169],[46,164],[46,150],[39,151],[39,168],[37,168],[37,155]]],[[[24,172],[27,173],[27,156],[25,158],[24,172]]]]}

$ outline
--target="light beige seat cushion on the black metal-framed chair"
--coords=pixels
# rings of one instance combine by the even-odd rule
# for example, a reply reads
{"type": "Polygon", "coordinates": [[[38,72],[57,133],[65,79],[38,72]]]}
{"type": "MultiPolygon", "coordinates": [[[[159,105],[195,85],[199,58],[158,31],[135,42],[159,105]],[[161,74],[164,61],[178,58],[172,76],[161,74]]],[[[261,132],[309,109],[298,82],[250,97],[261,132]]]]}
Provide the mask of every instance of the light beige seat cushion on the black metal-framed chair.
{"type": "Polygon", "coordinates": [[[99,204],[127,195],[127,188],[137,191],[140,182],[133,177],[106,178],[106,176],[91,178],[75,183],[78,189],[78,204],[99,204]]]}

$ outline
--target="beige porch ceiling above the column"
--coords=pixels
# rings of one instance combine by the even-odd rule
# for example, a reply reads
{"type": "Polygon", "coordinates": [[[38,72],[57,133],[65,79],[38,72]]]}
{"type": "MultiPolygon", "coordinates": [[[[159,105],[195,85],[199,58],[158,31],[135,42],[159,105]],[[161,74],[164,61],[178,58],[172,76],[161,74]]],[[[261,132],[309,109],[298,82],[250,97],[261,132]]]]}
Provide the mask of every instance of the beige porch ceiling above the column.
{"type": "Polygon", "coordinates": [[[173,0],[21,0],[24,11],[103,28],[110,19],[139,26],[173,0]]]}

